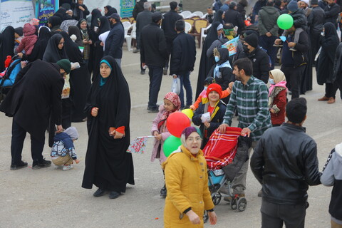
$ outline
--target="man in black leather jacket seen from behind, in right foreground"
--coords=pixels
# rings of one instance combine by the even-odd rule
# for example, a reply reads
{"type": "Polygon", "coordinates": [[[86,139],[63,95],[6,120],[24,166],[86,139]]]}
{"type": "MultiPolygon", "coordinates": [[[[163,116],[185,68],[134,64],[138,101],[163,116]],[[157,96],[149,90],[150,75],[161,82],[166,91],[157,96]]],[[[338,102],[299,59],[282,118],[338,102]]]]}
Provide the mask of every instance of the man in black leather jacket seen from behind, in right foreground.
{"type": "Polygon", "coordinates": [[[317,145],[302,127],[306,100],[286,105],[289,121],[269,128],[251,157],[251,170],[262,185],[261,226],[304,228],[309,185],[321,184],[317,145]]]}

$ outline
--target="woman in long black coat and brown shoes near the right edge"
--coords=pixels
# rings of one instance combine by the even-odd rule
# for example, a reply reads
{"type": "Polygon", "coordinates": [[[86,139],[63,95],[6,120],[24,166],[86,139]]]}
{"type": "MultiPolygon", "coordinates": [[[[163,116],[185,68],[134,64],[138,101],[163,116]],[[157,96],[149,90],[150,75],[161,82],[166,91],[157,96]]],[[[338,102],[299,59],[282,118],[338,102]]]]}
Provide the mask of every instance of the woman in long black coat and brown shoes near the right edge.
{"type": "Polygon", "coordinates": [[[326,94],[318,100],[334,103],[337,86],[333,83],[333,62],[340,42],[338,41],[336,27],[331,22],[324,24],[324,36],[321,36],[320,43],[322,49],[316,65],[317,83],[318,85],[326,83],[326,94]]]}

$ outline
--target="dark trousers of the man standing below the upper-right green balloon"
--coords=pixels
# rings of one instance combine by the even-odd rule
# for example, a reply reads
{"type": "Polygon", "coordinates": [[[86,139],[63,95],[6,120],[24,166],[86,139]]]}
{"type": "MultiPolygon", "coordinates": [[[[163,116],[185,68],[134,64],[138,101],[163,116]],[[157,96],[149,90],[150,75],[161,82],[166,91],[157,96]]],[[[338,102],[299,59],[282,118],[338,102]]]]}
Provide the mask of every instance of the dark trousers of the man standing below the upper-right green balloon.
{"type": "Polygon", "coordinates": [[[301,78],[303,78],[305,65],[293,67],[293,66],[281,66],[281,71],[285,74],[286,86],[291,90],[291,99],[299,98],[301,91],[301,78]]]}

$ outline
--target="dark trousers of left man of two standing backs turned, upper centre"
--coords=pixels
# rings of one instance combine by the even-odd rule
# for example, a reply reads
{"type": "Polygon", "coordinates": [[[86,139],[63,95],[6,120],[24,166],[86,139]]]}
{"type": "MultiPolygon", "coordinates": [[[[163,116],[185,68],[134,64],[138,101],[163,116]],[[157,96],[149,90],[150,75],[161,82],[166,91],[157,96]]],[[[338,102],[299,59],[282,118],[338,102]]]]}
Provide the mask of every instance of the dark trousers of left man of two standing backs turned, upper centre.
{"type": "Polygon", "coordinates": [[[150,90],[148,91],[148,107],[157,108],[158,93],[162,84],[162,66],[148,65],[150,90]]]}

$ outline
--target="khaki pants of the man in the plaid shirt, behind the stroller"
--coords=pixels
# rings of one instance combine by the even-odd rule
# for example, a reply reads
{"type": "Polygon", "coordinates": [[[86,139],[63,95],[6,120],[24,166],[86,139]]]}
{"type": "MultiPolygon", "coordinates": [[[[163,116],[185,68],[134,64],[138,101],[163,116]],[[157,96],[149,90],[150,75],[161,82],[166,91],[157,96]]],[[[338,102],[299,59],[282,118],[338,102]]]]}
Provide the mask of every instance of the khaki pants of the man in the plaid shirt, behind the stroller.
{"type": "MultiPolygon", "coordinates": [[[[251,159],[251,152],[254,150],[254,147],[257,145],[258,141],[252,142],[252,146],[248,150],[249,160],[251,159]]],[[[246,189],[246,179],[247,179],[247,171],[249,167],[249,160],[242,165],[241,170],[237,172],[233,182],[232,189],[233,194],[244,194],[244,190],[246,189]]]]}

